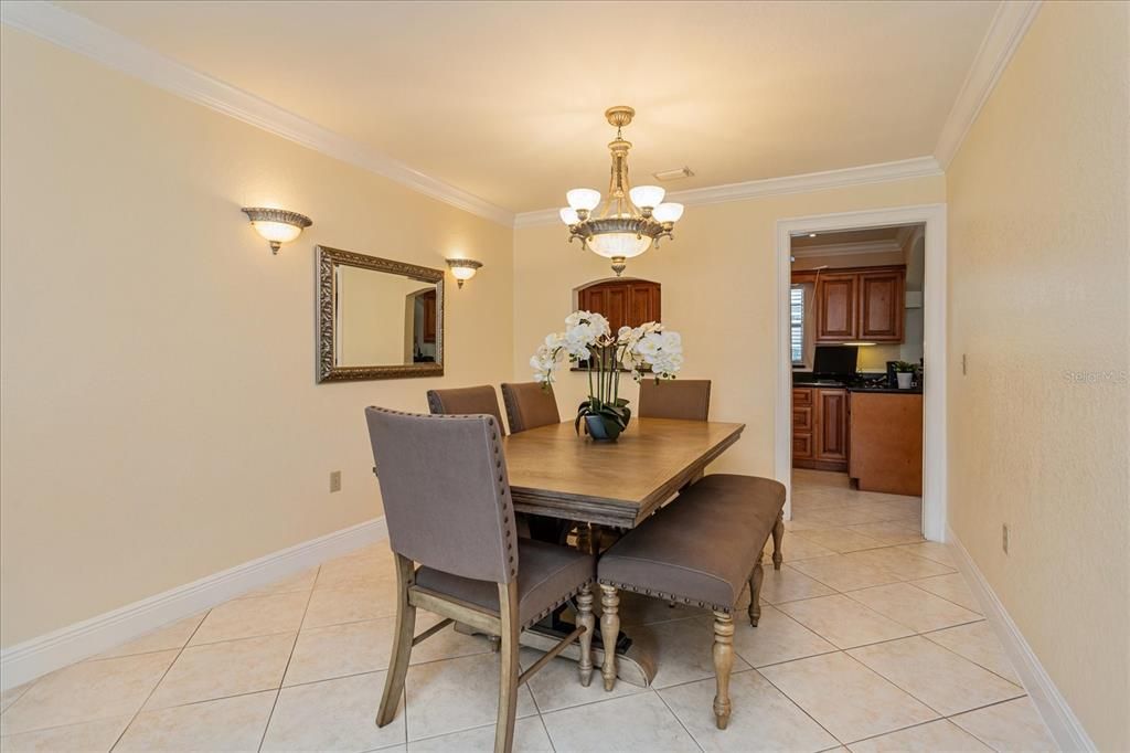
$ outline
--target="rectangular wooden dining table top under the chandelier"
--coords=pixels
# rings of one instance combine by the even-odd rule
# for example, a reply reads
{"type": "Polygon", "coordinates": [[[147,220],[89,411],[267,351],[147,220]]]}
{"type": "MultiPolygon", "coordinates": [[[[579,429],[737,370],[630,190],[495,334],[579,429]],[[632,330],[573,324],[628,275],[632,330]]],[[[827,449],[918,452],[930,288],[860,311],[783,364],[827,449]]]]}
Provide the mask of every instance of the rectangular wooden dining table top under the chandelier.
{"type": "Polygon", "coordinates": [[[633,528],[741,436],[745,424],[633,418],[617,442],[573,422],[503,439],[519,512],[633,528]]]}

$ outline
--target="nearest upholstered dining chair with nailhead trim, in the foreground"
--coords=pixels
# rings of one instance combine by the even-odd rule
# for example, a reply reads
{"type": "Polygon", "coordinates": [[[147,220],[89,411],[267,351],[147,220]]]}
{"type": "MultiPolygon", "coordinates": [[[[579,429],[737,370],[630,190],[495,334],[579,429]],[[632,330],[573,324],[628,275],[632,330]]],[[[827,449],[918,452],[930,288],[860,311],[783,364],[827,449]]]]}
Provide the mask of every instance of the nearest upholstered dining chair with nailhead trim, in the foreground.
{"type": "Polygon", "coordinates": [[[421,416],[371,407],[365,418],[398,581],[392,666],[376,724],[383,727],[395,717],[412,646],[458,620],[502,638],[495,751],[508,752],[519,686],[574,640],[581,644],[581,684],[589,684],[594,557],[518,538],[494,416],[421,416]],[[521,631],[573,596],[576,630],[520,675],[521,631]],[[415,635],[417,608],[445,620],[415,635]]]}

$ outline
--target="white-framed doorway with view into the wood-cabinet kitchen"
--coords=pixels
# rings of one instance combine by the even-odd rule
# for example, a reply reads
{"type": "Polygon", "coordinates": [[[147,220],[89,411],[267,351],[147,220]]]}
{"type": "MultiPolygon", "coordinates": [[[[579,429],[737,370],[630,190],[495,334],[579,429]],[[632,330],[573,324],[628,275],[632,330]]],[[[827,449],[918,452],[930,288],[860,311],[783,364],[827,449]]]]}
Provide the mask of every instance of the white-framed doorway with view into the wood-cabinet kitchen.
{"type": "Polygon", "coordinates": [[[945,206],[782,219],[777,254],[786,516],[945,540],[945,206]]]}

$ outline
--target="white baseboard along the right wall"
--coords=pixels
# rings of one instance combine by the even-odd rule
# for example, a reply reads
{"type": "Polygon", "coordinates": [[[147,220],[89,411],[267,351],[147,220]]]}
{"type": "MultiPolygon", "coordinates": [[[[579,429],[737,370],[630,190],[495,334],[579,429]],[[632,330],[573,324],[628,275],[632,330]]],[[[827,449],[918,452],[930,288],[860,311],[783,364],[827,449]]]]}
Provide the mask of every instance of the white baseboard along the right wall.
{"type": "Polygon", "coordinates": [[[1071,711],[1067,700],[1052,683],[1043,665],[1036,657],[1028,641],[1024,639],[1020,629],[1016,626],[1012,618],[1005,611],[1005,605],[997,598],[997,594],[989,586],[989,581],[981,573],[968,551],[962,545],[959,538],[951,528],[946,527],[946,542],[954,551],[957,568],[962,571],[965,582],[984,609],[985,620],[992,625],[993,631],[1005,646],[1008,658],[1012,660],[1025,690],[1032,696],[1036,710],[1043,717],[1048,730],[1055,738],[1055,743],[1063,751],[1096,751],[1095,744],[1090,741],[1079,718],[1071,711]]]}

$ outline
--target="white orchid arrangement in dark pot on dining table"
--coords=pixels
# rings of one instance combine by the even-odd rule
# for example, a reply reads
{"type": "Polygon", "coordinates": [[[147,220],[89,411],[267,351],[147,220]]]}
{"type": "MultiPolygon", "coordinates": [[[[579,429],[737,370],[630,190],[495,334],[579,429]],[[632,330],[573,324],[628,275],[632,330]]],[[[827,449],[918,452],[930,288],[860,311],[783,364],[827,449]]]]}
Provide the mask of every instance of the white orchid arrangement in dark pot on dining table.
{"type": "Polygon", "coordinates": [[[658,321],[620,327],[614,335],[603,315],[574,311],[565,318],[565,331],[547,336],[530,358],[533,378],[553,383],[562,362],[588,364],[589,398],[577,408],[576,432],[583,422],[592,439],[615,442],[632,419],[628,401],[620,397],[620,374],[628,371],[638,382],[647,366],[657,381],[675,379],[683,366],[683,341],[658,321]]]}

